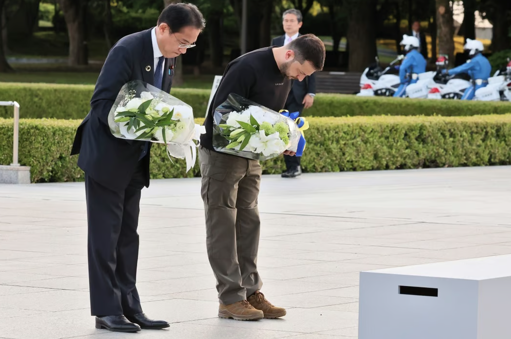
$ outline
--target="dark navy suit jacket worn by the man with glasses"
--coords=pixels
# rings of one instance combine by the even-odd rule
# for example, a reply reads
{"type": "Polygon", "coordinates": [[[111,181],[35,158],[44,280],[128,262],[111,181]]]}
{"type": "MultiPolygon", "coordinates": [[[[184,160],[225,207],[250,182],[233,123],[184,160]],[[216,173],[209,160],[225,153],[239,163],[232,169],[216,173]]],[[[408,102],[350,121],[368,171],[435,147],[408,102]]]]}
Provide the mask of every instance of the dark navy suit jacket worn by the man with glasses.
{"type": "MultiPolygon", "coordinates": [[[[78,127],[71,151],[71,155],[80,154],[78,166],[86,175],[116,191],[128,186],[144,142],[115,138],[108,127],[108,114],[125,83],[142,80],[154,84],[151,30],[125,36],[108,53],[90,100],[89,114],[78,127]],[[146,71],[146,66],[151,66],[150,71],[146,71]]],[[[162,90],[167,93],[174,75],[174,72],[169,74],[169,69],[174,64],[175,58],[165,60],[162,90]]],[[[149,187],[149,151],[142,160],[146,187],[149,187]]]]}

